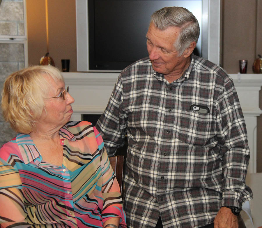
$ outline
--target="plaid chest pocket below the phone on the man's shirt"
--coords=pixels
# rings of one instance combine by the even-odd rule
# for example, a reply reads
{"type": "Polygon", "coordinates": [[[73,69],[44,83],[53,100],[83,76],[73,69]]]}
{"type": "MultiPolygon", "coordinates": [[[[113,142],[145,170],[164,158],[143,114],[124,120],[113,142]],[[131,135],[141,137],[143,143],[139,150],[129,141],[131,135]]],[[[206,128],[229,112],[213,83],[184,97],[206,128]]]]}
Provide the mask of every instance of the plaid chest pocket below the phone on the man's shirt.
{"type": "Polygon", "coordinates": [[[176,138],[187,144],[203,147],[216,135],[211,113],[182,111],[175,117],[175,123],[176,138]]]}

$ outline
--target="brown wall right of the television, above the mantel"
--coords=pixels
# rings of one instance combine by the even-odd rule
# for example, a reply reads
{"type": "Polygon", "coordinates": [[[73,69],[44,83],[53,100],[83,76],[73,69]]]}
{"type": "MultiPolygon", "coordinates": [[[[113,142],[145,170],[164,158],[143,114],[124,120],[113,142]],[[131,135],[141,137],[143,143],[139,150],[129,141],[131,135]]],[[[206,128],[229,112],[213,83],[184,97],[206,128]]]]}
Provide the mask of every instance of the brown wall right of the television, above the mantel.
{"type": "Polygon", "coordinates": [[[240,59],[248,60],[247,73],[253,73],[252,64],[256,57],[256,2],[223,0],[222,66],[228,73],[239,72],[240,59]]]}

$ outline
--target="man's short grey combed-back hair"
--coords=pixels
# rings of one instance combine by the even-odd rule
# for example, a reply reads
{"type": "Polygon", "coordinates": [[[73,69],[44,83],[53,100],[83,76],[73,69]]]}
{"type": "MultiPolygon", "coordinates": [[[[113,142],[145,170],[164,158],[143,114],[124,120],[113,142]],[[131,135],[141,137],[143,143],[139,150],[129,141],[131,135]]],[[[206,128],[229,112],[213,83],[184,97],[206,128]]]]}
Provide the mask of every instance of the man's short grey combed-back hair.
{"type": "Polygon", "coordinates": [[[180,34],[174,43],[179,56],[183,54],[191,42],[195,41],[197,43],[198,41],[200,29],[197,18],[186,8],[164,7],[152,14],[150,23],[153,23],[160,30],[165,30],[171,26],[181,28],[180,34]]]}

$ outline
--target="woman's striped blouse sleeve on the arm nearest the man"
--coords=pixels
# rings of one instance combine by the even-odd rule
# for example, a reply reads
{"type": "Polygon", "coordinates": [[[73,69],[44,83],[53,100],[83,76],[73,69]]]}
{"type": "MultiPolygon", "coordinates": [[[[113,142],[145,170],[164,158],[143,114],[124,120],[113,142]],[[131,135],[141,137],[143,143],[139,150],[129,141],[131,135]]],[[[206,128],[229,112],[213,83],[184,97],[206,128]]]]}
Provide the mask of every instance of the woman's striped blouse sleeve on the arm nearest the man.
{"type": "MultiPolygon", "coordinates": [[[[98,130],[94,127],[96,140],[98,145],[103,145],[102,137],[98,130]]],[[[99,147],[100,147],[99,146],[99,147]]],[[[112,218],[120,217],[121,227],[126,227],[126,217],[123,210],[123,200],[120,193],[119,184],[116,180],[115,173],[110,165],[105,147],[100,149],[100,161],[102,170],[102,195],[104,199],[104,205],[102,209],[102,221],[103,223],[112,218]]]]}

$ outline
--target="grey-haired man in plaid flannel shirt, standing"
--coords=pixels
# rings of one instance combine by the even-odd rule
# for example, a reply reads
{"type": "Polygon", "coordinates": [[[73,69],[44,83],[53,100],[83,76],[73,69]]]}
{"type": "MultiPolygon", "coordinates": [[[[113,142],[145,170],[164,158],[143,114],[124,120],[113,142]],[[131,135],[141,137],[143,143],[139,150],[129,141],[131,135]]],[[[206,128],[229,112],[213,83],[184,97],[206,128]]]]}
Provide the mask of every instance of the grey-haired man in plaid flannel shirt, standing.
{"type": "Polygon", "coordinates": [[[198,37],[187,9],[154,12],[149,58],[120,73],[98,121],[109,156],[128,136],[130,227],[235,228],[242,204],[252,199],[236,89],[224,69],[192,54],[198,37]]]}

